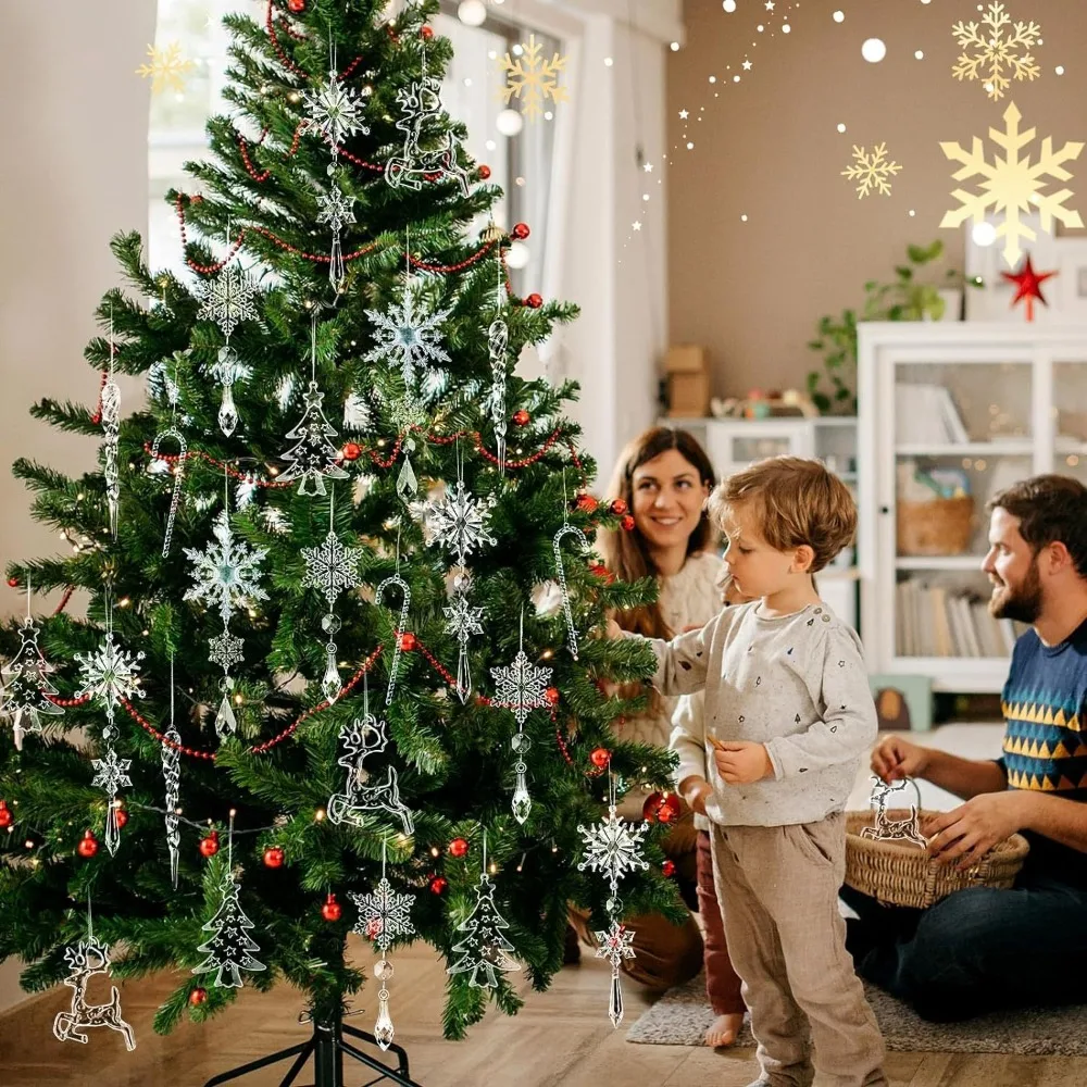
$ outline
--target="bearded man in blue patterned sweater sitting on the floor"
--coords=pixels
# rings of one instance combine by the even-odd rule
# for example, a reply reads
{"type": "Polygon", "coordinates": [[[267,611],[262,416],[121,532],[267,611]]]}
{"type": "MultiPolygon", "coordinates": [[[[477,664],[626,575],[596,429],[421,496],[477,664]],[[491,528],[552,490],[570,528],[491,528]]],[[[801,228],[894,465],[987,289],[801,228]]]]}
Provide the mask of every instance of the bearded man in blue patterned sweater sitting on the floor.
{"type": "Polygon", "coordinates": [[[886,782],[919,777],[965,803],[923,827],[941,863],[970,867],[1014,832],[1030,842],[1015,887],[972,887],[928,910],[852,888],[858,973],[928,1020],[1087,1000],[1087,488],[1036,476],[988,504],[989,611],[1029,623],[1002,703],[1002,759],[973,761],[888,736],[886,782]]]}

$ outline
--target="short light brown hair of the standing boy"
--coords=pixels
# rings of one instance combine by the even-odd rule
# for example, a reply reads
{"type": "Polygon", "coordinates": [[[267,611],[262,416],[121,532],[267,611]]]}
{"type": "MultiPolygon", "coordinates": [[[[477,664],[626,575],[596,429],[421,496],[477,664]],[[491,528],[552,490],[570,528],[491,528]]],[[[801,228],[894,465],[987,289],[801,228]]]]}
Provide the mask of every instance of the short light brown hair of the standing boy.
{"type": "Polygon", "coordinates": [[[822,461],[770,457],[720,483],[707,500],[710,520],[727,532],[740,504],[757,511],[763,538],[775,551],[807,545],[815,552],[809,573],[823,570],[857,535],[857,503],[822,461]]]}

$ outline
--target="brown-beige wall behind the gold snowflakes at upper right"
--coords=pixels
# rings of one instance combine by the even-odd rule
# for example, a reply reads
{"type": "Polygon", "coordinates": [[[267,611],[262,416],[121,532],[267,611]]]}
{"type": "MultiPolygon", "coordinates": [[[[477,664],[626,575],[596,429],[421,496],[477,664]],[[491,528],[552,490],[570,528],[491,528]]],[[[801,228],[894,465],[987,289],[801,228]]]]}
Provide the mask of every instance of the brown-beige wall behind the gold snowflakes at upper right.
{"type": "MultiPolygon", "coordinates": [[[[819,365],[805,348],[819,316],[859,304],[866,279],[889,279],[907,243],[941,237],[951,262],[962,266],[962,234],[938,228],[957,187],[939,141],[969,147],[973,136],[987,137],[990,126],[1003,127],[1012,100],[1023,127],[1037,126],[1037,143],[1049,135],[1057,147],[1087,139],[1082,0],[1007,4],[1013,18],[1040,24],[1044,43],[1035,55],[1042,74],[1014,84],[1000,102],[951,76],[958,54],[951,26],[978,17],[976,0],[804,0],[794,7],[777,3],[778,12],[790,9],[791,33],[783,35],[782,18],[762,0],[739,0],[732,15],[721,0],[685,0],[687,43],[669,58],[669,142],[680,142],[678,111],[686,109],[696,145],[673,151],[669,170],[671,341],[709,347],[717,395],[802,387],[819,365]],[[846,11],[840,25],[832,18],[838,8],[846,11]],[[753,33],[762,20],[766,32],[753,33]],[[869,37],[887,43],[879,64],[861,58],[869,37]],[[753,67],[732,84],[753,39],[753,67]],[[922,61],[914,59],[917,49],[922,61]],[[1067,70],[1063,76],[1053,73],[1059,64],[1067,70]],[[717,76],[716,87],[710,75],[717,76]],[[704,120],[695,123],[702,105],[704,120]],[[859,200],[839,172],[854,142],[884,140],[903,170],[890,197],[859,200]]],[[[1087,152],[1071,168],[1076,197],[1070,204],[1087,212],[1087,152]]]]}

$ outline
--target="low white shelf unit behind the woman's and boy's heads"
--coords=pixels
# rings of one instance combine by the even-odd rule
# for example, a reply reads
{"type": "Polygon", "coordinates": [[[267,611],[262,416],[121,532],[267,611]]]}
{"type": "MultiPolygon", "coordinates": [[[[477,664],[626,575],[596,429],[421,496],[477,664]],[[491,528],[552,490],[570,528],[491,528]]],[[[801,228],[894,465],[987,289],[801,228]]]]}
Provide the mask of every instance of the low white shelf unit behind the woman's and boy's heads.
{"type": "MultiPolygon", "coordinates": [[[[662,426],[689,430],[709,454],[719,479],[765,457],[817,457],[826,462],[850,490],[857,491],[857,418],[821,415],[816,418],[683,418],[660,420],[662,426]]],[[[841,565],[819,575],[820,595],[830,610],[857,626],[858,572],[853,553],[841,565]]]]}

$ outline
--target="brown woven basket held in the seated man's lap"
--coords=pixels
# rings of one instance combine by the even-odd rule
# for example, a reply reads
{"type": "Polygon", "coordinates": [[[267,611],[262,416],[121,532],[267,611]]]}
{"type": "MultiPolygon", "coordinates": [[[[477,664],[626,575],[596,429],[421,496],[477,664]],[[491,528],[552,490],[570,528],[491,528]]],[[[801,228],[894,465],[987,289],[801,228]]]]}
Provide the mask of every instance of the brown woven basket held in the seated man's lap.
{"type": "MultiPolygon", "coordinates": [[[[887,810],[889,820],[905,820],[909,809],[887,810]]],[[[922,812],[925,815],[934,812],[922,812]]],[[[846,885],[885,905],[912,905],[924,910],[952,891],[967,887],[1007,889],[1015,883],[1029,846],[1013,834],[994,847],[969,872],[938,864],[911,841],[862,838],[861,830],[875,824],[875,811],[846,813],[846,885]]]]}

